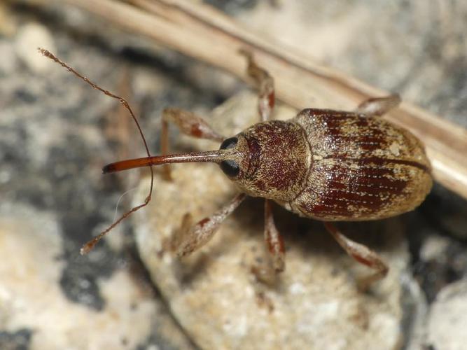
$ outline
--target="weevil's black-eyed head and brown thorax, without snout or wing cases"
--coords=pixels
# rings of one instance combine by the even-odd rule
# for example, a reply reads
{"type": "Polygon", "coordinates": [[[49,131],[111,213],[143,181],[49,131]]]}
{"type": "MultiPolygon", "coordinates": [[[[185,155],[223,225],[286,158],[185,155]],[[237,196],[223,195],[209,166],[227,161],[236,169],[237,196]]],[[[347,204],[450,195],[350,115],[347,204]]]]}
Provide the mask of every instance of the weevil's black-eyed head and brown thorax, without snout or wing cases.
{"type": "Polygon", "coordinates": [[[311,153],[298,125],[258,123],[225,139],[220,151],[222,171],[248,195],[288,201],[305,186],[311,153]]]}

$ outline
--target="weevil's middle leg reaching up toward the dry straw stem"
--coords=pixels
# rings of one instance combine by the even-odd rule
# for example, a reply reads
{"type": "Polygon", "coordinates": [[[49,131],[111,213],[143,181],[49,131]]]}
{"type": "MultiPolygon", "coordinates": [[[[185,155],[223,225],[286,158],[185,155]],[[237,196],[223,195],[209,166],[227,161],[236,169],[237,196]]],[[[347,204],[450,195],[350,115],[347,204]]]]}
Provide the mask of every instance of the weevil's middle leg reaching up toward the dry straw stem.
{"type": "Polygon", "coordinates": [[[240,53],[248,59],[248,74],[256,81],[260,89],[258,111],[260,112],[261,121],[270,120],[275,102],[274,79],[265,69],[256,64],[250,51],[240,50],[240,53]]]}

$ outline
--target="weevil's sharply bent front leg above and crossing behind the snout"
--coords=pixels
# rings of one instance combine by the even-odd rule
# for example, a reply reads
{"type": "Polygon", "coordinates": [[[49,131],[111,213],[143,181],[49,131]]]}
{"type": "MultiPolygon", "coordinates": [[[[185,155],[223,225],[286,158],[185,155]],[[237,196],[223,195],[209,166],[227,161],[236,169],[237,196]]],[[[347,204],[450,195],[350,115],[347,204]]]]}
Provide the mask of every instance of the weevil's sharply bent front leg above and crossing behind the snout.
{"type": "MultiPolygon", "coordinates": [[[[175,123],[183,134],[197,137],[199,139],[209,139],[223,141],[224,137],[215,132],[201,117],[181,109],[165,109],[162,111],[162,128],[160,136],[160,153],[169,153],[169,121],[175,123]]],[[[169,165],[163,165],[166,179],[170,179],[169,165]]]]}

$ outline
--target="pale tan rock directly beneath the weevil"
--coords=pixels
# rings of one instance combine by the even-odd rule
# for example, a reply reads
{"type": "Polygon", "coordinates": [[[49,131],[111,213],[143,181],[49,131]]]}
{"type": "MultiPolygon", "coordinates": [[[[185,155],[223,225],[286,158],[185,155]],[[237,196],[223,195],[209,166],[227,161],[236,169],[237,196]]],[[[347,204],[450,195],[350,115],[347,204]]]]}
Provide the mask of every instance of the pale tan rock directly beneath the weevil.
{"type": "MultiPolygon", "coordinates": [[[[279,114],[290,118],[295,112],[279,114]]],[[[256,96],[244,93],[216,109],[211,125],[233,135],[255,116],[256,96]]],[[[191,145],[218,148],[211,142],[191,145]]],[[[156,177],[151,207],[134,220],[137,243],[174,316],[202,349],[365,349],[372,344],[394,349],[401,344],[400,279],[407,274],[408,255],[398,219],[347,227],[360,231],[356,239],[379,251],[391,267],[389,276],[365,294],[358,292],[354,276],[368,270],[356,267],[319,223],[276,208],[286,240],[286,271],[266,286],[250,272],[257,259],[267,259],[263,201],[244,202],[214,239],[179,260],[171,242],[183,215],[190,212],[195,221],[209,216],[235,188],[216,165],[175,165],[172,175],[173,182],[156,177]]],[[[136,202],[148,186],[148,180],[141,182],[136,202]]]]}

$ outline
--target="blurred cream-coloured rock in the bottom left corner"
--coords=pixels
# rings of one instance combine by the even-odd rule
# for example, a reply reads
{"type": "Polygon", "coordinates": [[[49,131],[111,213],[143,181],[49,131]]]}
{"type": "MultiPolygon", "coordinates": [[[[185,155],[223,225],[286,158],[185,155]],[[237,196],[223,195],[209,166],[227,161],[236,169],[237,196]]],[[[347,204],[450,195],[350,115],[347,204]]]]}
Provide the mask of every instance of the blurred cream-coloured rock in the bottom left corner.
{"type": "Polygon", "coordinates": [[[50,214],[21,204],[0,207],[1,332],[31,330],[32,350],[118,350],[146,342],[157,324],[172,344],[190,346],[127,269],[99,281],[102,310],[67,299],[60,287],[62,244],[50,214]]]}

